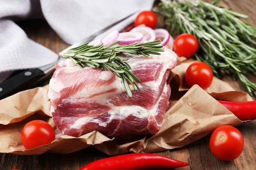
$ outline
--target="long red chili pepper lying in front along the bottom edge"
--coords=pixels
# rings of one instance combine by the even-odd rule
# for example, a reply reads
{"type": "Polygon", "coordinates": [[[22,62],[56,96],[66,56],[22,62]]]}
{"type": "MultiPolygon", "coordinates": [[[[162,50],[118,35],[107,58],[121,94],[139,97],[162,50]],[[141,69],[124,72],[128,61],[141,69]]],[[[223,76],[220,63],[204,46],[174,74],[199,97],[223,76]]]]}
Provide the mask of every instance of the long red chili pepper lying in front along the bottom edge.
{"type": "Polygon", "coordinates": [[[163,155],[150,153],[131,153],[93,161],[79,170],[148,170],[179,168],[189,163],[177,161],[163,155]]]}

